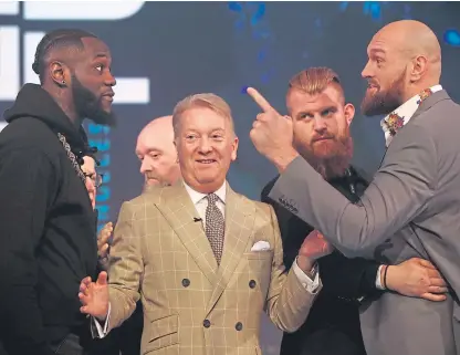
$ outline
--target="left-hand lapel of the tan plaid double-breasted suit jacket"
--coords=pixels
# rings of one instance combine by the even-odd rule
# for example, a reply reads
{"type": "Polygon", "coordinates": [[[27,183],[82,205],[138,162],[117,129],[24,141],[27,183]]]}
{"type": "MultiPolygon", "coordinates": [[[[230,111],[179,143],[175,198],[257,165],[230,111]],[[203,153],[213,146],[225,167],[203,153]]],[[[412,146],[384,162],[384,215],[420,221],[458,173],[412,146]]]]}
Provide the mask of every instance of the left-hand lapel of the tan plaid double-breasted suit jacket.
{"type": "Polygon", "coordinates": [[[217,262],[202,222],[182,182],[163,190],[157,208],[211,284],[216,282],[217,262]]]}

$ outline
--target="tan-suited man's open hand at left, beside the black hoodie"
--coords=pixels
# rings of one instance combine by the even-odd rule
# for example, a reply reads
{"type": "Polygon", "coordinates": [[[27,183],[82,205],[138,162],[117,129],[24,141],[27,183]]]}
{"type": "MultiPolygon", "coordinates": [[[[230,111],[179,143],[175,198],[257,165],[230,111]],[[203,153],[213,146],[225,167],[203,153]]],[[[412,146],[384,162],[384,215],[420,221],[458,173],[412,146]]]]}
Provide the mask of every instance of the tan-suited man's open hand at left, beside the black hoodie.
{"type": "Polygon", "coordinates": [[[80,283],[79,299],[82,303],[80,312],[105,320],[108,313],[107,273],[101,272],[96,282],[90,276],[83,279],[80,283]]]}

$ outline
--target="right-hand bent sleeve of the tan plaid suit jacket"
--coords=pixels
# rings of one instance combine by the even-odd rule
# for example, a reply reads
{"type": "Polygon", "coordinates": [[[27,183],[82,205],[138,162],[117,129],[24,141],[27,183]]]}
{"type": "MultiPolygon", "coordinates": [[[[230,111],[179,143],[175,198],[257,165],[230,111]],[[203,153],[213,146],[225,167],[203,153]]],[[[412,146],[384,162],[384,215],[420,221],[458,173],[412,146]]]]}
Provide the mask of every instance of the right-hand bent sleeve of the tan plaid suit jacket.
{"type": "Polygon", "coordinates": [[[306,320],[313,301],[322,285],[315,293],[310,293],[291,269],[288,274],[283,264],[283,246],[276,216],[270,206],[270,217],[274,234],[273,261],[265,311],[271,321],[284,332],[295,332],[306,320]]]}

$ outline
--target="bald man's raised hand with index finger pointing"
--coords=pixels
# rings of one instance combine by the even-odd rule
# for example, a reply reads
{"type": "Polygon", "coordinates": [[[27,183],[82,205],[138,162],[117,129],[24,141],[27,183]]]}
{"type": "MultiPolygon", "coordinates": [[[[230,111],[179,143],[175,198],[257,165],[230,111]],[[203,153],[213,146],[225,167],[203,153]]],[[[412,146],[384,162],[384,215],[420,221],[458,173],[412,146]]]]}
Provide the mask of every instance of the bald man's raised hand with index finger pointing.
{"type": "Polygon", "coordinates": [[[280,115],[255,88],[248,95],[262,108],[252,124],[250,137],[260,154],[271,160],[280,171],[299,156],[292,146],[293,127],[289,116],[280,115]]]}

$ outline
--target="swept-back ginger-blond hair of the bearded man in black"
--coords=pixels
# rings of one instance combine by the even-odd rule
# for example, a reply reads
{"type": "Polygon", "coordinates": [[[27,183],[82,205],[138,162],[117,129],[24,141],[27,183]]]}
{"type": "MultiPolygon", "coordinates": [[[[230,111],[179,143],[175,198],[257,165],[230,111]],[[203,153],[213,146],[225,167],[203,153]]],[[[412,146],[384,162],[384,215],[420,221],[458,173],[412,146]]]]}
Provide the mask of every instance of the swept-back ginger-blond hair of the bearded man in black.
{"type": "Polygon", "coordinates": [[[314,66],[303,70],[295,74],[289,82],[289,91],[296,88],[309,95],[321,94],[330,84],[336,84],[336,87],[344,95],[341,80],[336,72],[325,66],[314,66]]]}

